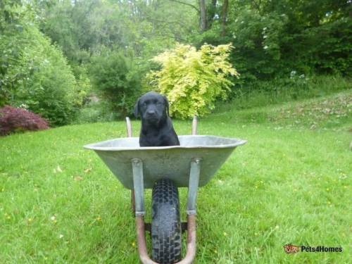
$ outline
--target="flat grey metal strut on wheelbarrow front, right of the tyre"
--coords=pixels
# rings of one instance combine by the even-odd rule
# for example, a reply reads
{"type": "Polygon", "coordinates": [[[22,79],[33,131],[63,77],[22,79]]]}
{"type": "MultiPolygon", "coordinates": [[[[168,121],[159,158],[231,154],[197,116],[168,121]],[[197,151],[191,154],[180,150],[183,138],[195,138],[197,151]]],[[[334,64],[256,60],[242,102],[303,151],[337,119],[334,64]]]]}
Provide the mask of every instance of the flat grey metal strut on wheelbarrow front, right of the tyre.
{"type": "Polygon", "coordinates": [[[187,215],[196,214],[196,199],[200,173],[201,159],[196,158],[194,161],[191,161],[191,170],[189,172],[187,215]]]}

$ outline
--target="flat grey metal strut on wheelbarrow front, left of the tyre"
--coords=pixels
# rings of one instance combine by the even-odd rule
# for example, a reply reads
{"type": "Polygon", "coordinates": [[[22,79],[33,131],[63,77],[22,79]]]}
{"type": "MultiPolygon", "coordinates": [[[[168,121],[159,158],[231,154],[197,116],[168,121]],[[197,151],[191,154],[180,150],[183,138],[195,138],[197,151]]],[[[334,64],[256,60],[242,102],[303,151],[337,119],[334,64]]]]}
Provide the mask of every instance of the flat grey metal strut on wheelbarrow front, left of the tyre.
{"type": "Polygon", "coordinates": [[[135,215],[144,215],[143,163],[139,158],[132,159],[135,215]]]}

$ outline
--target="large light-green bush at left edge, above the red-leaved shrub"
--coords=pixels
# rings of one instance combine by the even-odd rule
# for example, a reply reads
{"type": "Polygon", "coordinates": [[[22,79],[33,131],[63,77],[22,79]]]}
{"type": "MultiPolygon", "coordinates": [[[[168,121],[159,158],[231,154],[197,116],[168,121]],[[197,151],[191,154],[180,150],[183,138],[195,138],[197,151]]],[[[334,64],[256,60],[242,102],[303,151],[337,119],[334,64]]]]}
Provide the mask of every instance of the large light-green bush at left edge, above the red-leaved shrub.
{"type": "Polygon", "coordinates": [[[30,14],[22,9],[17,7],[20,18],[5,24],[1,34],[1,103],[24,105],[51,125],[65,125],[82,104],[82,91],[61,50],[21,18],[21,12],[30,14]]]}

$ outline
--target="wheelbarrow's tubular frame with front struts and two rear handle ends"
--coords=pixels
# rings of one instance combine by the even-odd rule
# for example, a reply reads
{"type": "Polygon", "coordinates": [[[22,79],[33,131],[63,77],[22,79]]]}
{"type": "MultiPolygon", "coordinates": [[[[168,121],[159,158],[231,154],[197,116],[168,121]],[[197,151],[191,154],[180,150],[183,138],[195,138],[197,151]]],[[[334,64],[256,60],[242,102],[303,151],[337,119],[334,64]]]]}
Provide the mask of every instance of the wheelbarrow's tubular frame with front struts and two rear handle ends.
{"type": "MultiPolygon", "coordinates": [[[[132,127],[130,119],[126,118],[127,134],[132,136],[132,127]]],[[[196,134],[197,120],[194,117],[192,122],[192,134],[196,134]]],[[[143,162],[139,158],[132,158],[133,185],[132,191],[132,208],[134,208],[137,243],[139,258],[144,264],[158,264],[149,258],[146,250],[145,223],[144,223],[144,180],[143,180],[143,162]],[[134,198],[134,199],[133,199],[134,198]]],[[[192,263],[196,256],[196,197],[199,187],[199,175],[201,172],[201,158],[194,158],[190,161],[189,186],[187,197],[187,253],[186,256],[178,262],[179,264],[192,263]]]]}

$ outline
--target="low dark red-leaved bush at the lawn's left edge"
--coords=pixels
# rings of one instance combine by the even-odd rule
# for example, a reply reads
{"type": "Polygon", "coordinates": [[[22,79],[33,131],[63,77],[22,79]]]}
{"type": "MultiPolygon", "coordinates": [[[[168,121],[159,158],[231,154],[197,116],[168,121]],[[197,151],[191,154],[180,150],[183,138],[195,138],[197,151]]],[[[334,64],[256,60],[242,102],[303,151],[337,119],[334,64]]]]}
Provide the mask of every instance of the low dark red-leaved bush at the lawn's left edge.
{"type": "Polygon", "coordinates": [[[12,106],[0,108],[0,135],[47,128],[48,122],[40,115],[12,106]]]}

